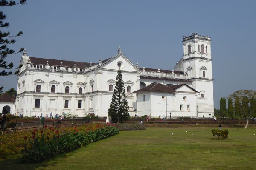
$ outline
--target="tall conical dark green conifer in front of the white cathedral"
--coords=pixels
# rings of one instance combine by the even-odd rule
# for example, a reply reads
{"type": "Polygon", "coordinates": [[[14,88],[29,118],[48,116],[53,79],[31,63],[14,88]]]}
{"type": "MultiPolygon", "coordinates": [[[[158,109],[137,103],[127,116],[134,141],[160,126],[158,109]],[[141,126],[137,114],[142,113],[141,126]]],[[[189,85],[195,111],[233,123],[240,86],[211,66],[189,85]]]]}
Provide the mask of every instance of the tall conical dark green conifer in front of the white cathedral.
{"type": "Polygon", "coordinates": [[[116,84],[114,94],[108,109],[108,116],[111,117],[113,123],[123,122],[129,118],[128,102],[125,95],[124,81],[122,79],[122,73],[119,69],[116,75],[116,84]]]}

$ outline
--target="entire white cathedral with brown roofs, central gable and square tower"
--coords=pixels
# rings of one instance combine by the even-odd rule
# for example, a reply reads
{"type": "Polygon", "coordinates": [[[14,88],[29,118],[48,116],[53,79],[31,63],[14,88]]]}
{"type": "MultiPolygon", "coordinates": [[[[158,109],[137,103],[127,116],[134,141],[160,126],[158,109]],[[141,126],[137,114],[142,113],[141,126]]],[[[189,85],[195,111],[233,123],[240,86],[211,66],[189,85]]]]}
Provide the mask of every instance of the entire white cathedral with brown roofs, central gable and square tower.
{"type": "Polygon", "coordinates": [[[211,38],[183,37],[183,57],[173,70],[141,68],[121,51],[98,63],[31,57],[24,50],[12,113],[107,116],[118,69],[131,116],[213,116],[211,38]]]}

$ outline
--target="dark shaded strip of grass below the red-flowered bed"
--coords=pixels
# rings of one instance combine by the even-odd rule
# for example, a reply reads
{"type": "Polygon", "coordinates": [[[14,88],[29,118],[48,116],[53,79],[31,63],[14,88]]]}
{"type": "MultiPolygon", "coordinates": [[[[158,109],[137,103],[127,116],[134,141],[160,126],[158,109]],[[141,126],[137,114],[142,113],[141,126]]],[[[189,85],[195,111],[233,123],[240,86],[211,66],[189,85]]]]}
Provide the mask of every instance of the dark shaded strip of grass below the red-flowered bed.
{"type": "MultiPolygon", "coordinates": [[[[72,153],[72,152],[70,152],[72,153]]],[[[0,169],[1,170],[35,170],[40,168],[51,168],[56,169],[55,167],[58,164],[58,161],[61,161],[63,159],[67,159],[66,153],[58,154],[57,156],[54,156],[52,158],[44,159],[43,161],[40,161],[38,163],[26,163],[23,164],[21,161],[21,155],[15,155],[12,157],[9,157],[7,159],[0,159],[0,169]],[[54,161],[52,161],[54,159],[54,161]]]]}

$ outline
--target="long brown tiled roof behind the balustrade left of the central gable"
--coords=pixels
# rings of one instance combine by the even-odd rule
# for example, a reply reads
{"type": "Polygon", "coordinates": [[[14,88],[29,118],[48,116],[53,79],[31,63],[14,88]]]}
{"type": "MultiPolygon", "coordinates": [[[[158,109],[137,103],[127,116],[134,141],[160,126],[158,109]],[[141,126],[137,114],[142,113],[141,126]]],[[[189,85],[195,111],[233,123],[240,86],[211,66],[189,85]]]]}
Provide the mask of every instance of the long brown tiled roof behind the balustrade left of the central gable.
{"type": "MultiPolygon", "coordinates": [[[[47,59],[47,58],[37,58],[37,57],[29,57],[30,62],[32,64],[47,64],[47,61],[49,62],[49,65],[62,65],[64,67],[74,67],[74,64],[76,64],[76,67],[78,68],[85,68],[90,66],[90,62],[77,62],[77,61],[67,61],[67,60],[61,60],[61,59],[47,59]]],[[[109,58],[108,58],[109,59],[109,58]]],[[[102,61],[102,63],[108,61],[108,59],[105,59],[102,61]]],[[[92,63],[92,65],[95,65],[97,63],[92,63]]]]}

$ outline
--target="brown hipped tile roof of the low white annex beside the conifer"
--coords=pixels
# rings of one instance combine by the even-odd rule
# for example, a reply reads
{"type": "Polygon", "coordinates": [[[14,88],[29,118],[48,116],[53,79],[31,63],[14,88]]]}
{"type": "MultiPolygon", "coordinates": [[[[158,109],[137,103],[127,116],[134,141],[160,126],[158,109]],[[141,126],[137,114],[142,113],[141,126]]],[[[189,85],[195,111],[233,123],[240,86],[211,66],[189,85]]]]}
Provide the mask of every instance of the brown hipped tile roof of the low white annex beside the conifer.
{"type": "Polygon", "coordinates": [[[155,83],[155,84],[148,85],[147,87],[142,88],[142,89],[137,90],[137,91],[134,91],[133,93],[137,93],[139,91],[156,91],[156,92],[167,92],[167,93],[175,92],[172,88],[170,88],[166,85],[162,85],[160,83],[155,83]]]}

